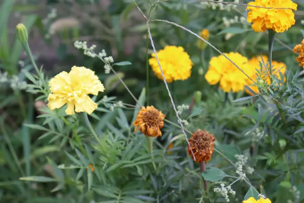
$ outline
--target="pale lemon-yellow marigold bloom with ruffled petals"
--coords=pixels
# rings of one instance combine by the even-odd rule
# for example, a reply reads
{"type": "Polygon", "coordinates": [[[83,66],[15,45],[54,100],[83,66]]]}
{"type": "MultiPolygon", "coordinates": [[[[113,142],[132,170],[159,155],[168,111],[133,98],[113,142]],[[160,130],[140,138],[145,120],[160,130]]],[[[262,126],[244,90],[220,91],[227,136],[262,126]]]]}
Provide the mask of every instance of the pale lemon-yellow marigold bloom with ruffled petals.
{"type": "Polygon", "coordinates": [[[73,115],[75,112],[91,114],[97,104],[88,94],[97,95],[103,92],[103,84],[90,69],[73,66],[69,73],[63,71],[49,82],[51,93],[48,97],[48,107],[58,109],[67,104],[65,113],[73,115]]]}

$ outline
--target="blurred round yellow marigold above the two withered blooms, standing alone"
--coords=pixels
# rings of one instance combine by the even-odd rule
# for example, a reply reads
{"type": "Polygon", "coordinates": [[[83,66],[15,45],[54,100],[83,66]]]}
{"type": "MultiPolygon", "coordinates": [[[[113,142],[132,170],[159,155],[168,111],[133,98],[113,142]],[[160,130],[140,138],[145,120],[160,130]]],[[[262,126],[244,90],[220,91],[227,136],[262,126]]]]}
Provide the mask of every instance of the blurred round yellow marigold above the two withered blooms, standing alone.
{"type": "MultiPolygon", "coordinates": [[[[186,80],[191,76],[193,62],[182,47],[166,46],[157,53],[165,79],[168,83],[175,80],[186,80]]],[[[149,59],[155,75],[163,80],[155,54],[149,59]]]]}

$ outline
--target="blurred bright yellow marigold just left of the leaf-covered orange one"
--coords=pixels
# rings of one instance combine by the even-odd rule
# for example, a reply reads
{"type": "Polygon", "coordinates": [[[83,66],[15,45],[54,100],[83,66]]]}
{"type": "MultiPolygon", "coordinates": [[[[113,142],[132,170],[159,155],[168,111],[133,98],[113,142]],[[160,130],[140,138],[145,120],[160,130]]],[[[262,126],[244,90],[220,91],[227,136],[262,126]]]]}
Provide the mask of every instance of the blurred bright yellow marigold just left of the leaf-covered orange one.
{"type": "MultiPolygon", "coordinates": [[[[240,69],[246,74],[252,75],[253,69],[250,69],[248,59],[239,53],[224,53],[228,58],[234,61],[240,69]]],[[[209,62],[209,69],[205,75],[210,85],[219,82],[220,88],[225,92],[242,91],[245,85],[249,84],[249,79],[232,62],[223,55],[212,57],[209,62]]]]}

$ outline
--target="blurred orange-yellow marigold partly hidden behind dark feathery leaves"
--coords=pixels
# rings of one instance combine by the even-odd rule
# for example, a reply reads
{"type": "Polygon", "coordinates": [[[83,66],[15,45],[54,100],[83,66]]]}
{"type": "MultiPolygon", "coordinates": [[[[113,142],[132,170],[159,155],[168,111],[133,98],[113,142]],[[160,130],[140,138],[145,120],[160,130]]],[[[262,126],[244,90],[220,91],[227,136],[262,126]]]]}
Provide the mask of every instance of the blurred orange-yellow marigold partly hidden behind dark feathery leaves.
{"type": "MultiPolygon", "coordinates": [[[[256,56],[256,57],[252,57],[250,60],[249,60],[249,64],[250,64],[250,67],[251,69],[254,70],[254,74],[253,75],[249,75],[251,77],[251,79],[253,79],[255,82],[258,82],[258,78],[257,78],[257,73],[256,73],[256,69],[259,71],[260,70],[260,63],[261,62],[262,64],[264,63],[265,65],[268,63],[268,56],[265,56],[263,55],[262,56],[262,59],[260,56],[256,56]]],[[[286,80],[285,78],[285,72],[286,72],[286,65],[285,63],[282,63],[282,62],[277,62],[277,61],[272,61],[272,71],[273,71],[273,75],[275,75],[278,79],[281,79],[280,77],[280,72],[283,74],[284,76],[284,81],[286,80]]],[[[268,85],[270,84],[270,77],[269,77],[269,65],[268,67],[263,67],[263,74],[262,74],[262,80],[265,81],[265,83],[267,83],[268,85]],[[267,69],[267,70],[266,70],[267,69]]],[[[249,81],[251,85],[249,85],[249,88],[251,90],[253,90],[256,94],[259,93],[258,91],[258,87],[256,85],[253,84],[252,81],[249,81]]],[[[248,94],[252,94],[251,92],[249,92],[247,89],[245,89],[245,91],[248,93],[248,94]]]]}

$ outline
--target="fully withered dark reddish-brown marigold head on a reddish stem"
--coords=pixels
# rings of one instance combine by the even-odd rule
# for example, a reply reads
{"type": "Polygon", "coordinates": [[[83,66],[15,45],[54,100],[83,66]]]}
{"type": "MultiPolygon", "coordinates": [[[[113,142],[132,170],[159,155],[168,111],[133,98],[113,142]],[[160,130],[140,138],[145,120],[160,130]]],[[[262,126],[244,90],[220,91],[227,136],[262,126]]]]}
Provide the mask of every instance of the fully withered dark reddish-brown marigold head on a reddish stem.
{"type": "MultiPolygon", "coordinates": [[[[206,161],[208,163],[214,151],[214,141],[215,137],[206,130],[199,129],[192,133],[189,143],[195,155],[195,162],[206,161]]],[[[194,160],[191,149],[188,147],[188,154],[194,160]]]]}

